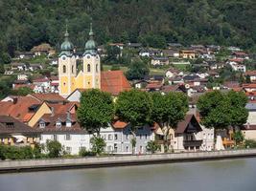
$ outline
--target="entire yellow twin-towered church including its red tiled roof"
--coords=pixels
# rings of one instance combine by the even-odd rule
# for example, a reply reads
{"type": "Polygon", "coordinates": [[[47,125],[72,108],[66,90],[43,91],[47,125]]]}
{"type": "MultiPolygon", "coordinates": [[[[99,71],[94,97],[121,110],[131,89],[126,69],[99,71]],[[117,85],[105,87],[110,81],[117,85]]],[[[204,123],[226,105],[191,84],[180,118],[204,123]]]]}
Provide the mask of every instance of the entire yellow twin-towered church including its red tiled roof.
{"type": "Polygon", "coordinates": [[[101,58],[97,52],[92,24],[90,24],[89,39],[85,43],[82,54],[82,69],[78,72],[74,46],[65,32],[61,52],[58,55],[59,95],[70,96],[76,90],[101,89],[117,96],[120,92],[130,90],[128,79],[122,71],[101,72],[101,58]]]}

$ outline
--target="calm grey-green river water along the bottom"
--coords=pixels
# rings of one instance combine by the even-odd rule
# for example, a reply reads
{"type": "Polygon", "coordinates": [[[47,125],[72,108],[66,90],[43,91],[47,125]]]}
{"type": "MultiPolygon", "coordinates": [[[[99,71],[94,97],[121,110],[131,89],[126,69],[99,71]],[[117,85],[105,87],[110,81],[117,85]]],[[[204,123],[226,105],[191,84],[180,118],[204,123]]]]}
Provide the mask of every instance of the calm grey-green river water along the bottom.
{"type": "Polygon", "coordinates": [[[0,191],[256,191],[256,158],[0,175],[0,191]]]}

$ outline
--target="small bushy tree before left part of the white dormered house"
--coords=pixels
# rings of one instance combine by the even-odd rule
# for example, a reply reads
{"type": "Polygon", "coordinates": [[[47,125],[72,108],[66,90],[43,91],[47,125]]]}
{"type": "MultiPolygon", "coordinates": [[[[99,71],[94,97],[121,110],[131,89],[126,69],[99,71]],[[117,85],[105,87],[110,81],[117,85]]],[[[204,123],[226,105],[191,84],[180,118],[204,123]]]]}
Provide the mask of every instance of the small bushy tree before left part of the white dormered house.
{"type": "Polygon", "coordinates": [[[61,152],[63,151],[63,147],[58,140],[48,139],[46,141],[46,150],[49,158],[59,158],[61,156],[61,152]]]}

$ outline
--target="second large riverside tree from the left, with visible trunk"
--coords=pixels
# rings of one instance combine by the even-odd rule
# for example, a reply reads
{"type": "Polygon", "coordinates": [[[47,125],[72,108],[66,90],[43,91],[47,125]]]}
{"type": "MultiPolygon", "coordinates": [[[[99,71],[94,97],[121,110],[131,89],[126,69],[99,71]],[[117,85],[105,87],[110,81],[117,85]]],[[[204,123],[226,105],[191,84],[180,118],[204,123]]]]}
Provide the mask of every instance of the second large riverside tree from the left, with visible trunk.
{"type": "MultiPolygon", "coordinates": [[[[136,140],[137,128],[151,121],[151,110],[152,100],[147,92],[139,90],[122,92],[116,100],[116,116],[129,123],[134,140],[136,140]]],[[[135,145],[132,145],[133,154],[134,147],[135,145]]]]}

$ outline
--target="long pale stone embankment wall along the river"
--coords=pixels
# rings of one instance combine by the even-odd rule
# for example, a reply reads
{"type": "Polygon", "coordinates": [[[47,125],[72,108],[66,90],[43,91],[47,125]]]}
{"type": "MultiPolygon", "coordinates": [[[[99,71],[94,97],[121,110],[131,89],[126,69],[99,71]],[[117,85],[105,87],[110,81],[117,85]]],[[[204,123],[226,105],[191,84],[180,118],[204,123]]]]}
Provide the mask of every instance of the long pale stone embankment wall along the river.
{"type": "Polygon", "coordinates": [[[100,168],[252,157],[256,157],[256,149],[100,158],[5,160],[0,161],[0,173],[100,168]]]}

